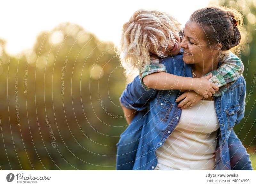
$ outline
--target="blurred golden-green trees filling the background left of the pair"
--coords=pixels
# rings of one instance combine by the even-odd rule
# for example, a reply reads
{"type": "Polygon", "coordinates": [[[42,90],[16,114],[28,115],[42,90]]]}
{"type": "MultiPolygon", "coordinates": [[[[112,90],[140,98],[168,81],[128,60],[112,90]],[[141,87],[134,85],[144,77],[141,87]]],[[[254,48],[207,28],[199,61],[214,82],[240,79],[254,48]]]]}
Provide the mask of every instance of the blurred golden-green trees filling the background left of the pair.
{"type": "Polygon", "coordinates": [[[70,23],[20,58],[0,43],[1,169],[115,169],[126,81],[113,43],[70,23]]]}

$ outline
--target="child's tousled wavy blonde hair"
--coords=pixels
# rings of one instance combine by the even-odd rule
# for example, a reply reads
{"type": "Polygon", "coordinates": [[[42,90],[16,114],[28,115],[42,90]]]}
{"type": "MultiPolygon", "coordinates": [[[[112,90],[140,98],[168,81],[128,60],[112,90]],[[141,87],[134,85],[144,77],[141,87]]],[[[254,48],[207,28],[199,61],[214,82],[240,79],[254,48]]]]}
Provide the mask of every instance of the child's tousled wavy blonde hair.
{"type": "Polygon", "coordinates": [[[136,69],[144,72],[150,64],[150,50],[161,58],[167,57],[162,49],[167,49],[170,40],[178,43],[180,31],[180,23],[167,13],[144,9],[134,12],[123,25],[117,49],[124,73],[130,75],[136,69]]]}

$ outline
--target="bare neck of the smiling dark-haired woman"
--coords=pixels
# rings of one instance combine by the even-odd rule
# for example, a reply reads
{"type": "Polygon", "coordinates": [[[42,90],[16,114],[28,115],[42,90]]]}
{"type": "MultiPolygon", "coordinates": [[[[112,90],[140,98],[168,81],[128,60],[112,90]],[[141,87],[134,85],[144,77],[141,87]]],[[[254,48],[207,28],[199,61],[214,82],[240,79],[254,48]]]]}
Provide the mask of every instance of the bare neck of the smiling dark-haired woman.
{"type": "Polygon", "coordinates": [[[218,68],[219,57],[213,59],[213,63],[195,63],[194,64],[194,73],[196,77],[203,77],[205,74],[212,72],[218,68]]]}

